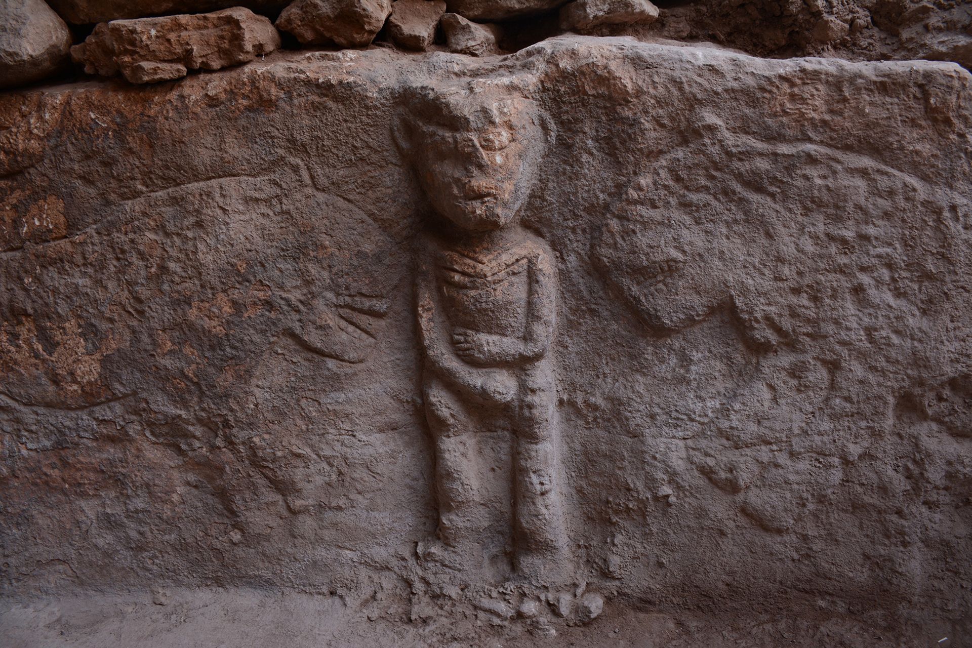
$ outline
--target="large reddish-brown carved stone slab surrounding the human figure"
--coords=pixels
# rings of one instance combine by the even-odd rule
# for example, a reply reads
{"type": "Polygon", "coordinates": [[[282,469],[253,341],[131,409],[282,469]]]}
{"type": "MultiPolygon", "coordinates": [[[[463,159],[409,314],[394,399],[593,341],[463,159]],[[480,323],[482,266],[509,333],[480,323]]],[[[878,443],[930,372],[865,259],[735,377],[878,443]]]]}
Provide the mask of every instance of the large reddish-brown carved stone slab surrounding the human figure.
{"type": "Polygon", "coordinates": [[[335,645],[699,645],[659,619],[740,612],[769,620],[703,645],[967,641],[970,116],[954,64],[588,37],[7,93],[4,590],[330,593],[377,629],[335,645]],[[427,87],[469,96],[477,139],[427,119],[470,160],[546,143],[517,231],[556,273],[562,578],[513,571],[511,432],[478,405],[488,557],[436,560],[416,277],[449,201],[393,128],[427,87]]]}

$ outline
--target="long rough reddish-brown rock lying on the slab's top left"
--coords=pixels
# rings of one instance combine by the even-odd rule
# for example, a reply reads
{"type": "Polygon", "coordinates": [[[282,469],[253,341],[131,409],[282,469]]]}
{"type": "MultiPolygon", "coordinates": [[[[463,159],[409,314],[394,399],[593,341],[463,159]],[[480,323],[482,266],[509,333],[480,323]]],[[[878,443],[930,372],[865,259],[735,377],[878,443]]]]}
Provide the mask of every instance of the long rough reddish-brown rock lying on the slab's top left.
{"type": "Polygon", "coordinates": [[[212,14],[102,22],[71,48],[88,74],[121,74],[133,84],[185,77],[188,70],[219,70],[252,61],[280,46],[266,17],[234,7],[212,14]]]}

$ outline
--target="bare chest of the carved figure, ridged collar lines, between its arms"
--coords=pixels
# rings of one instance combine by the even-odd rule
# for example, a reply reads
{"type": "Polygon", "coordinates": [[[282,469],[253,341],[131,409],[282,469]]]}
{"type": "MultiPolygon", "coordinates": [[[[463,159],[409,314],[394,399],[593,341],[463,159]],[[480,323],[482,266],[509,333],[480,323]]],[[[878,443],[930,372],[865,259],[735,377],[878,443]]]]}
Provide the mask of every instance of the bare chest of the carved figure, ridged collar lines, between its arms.
{"type": "Polygon", "coordinates": [[[434,259],[442,305],[453,326],[522,338],[529,314],[531,247],[441,249],[434,259]]]}

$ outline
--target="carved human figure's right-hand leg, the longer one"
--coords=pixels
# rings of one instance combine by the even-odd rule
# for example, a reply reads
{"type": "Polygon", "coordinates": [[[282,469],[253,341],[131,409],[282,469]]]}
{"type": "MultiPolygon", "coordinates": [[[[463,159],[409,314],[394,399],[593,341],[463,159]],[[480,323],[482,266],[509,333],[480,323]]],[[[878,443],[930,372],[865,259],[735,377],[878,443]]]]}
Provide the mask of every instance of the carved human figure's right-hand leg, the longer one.
{"type": "Polygon", "coordinates": [[[554,404],[553,392],[534,386],[521,401],[513,461],[519,571],[550,573],[566,553],[554,404]]]}

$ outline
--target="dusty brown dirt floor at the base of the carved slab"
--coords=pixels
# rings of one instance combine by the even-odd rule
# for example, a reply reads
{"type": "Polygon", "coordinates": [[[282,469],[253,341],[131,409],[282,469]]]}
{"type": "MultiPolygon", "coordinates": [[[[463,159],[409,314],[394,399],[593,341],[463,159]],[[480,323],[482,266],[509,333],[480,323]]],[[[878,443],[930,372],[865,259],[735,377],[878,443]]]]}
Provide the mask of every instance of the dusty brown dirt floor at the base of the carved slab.
{"type": "Polygon", "coordinates": [[[405,615],[369,621],[360,607],[341,597],[257,590],[172,589],[8,599],[0,602],[0,631],[5,648],[972,646],[968,624],[963,629],[867,613],[836,616],[803,610],[741,619],[608,604],[589,626],[569,627],[551,619],[547,635],[538,636],[536,624],[527,620],[438,617],[410,622],[405,615]]]}

